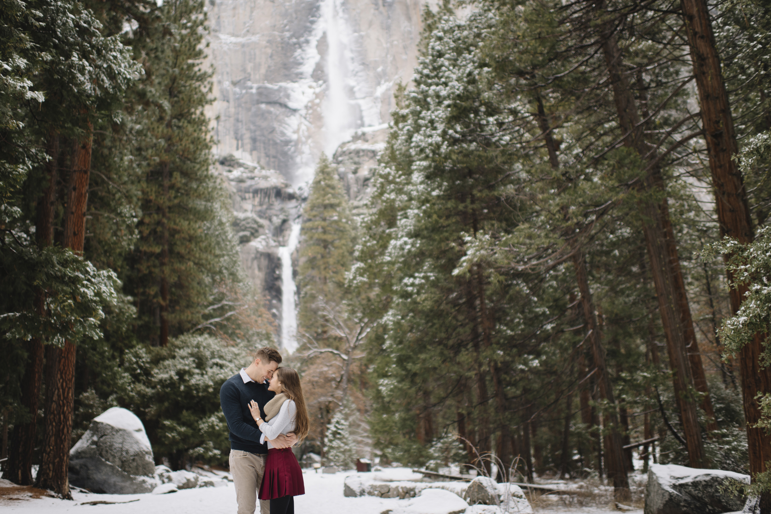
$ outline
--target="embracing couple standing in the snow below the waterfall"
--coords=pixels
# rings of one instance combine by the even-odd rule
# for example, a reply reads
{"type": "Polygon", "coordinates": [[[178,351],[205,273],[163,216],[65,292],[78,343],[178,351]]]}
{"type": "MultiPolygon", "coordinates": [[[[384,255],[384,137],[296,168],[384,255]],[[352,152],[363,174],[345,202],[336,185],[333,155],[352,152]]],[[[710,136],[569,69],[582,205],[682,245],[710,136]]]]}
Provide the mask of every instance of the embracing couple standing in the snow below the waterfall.
{"type": "Polygon", "coordinates": [[[308,435],[308,410],[300,375],[279,364],[266,346],[220,389],[238,514],[254,514],[258,497],[261,514],[295,514],[294,497],[305,494],[291,447],[308,435]]]}

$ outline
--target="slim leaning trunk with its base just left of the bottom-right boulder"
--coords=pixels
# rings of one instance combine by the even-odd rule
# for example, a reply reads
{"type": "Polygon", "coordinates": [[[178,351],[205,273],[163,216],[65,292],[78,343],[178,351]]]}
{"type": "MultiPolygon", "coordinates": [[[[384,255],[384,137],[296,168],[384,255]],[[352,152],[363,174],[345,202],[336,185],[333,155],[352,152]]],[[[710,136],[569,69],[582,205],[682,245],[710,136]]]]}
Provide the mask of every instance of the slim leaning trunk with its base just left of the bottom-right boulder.
{"type": "Polygon", "coordinates": [[[605,366],[605,350],[602,347],[602,340],[597,326],[597,319],[594,314],[594,302],[591,298],[589,289],[589,278],[586,269],[584,254],[580,249],[575,249],[573,253],[573,265],[575,267],[576,279],[578,282],[578,291],[581,292],[581,305],[584,309],[584,324],[588,334],[591,346],[592,359],[598,373],[598,386],[601,399],[608,402],[608,408],[604,409],[603,414],[607,416],[608,422],[604,428],[608,435],[608,451],[605,453],[605,462],[607,465],[608,478],[613,479],[614,498],[618,502],[628,502],[631,499],[629,490],[629,480],[624,467],[624,450],[621,444],[621,433],[619,432],[618,414],[615,407],[613,388],[611,386],[610,375],[605,366]]]}

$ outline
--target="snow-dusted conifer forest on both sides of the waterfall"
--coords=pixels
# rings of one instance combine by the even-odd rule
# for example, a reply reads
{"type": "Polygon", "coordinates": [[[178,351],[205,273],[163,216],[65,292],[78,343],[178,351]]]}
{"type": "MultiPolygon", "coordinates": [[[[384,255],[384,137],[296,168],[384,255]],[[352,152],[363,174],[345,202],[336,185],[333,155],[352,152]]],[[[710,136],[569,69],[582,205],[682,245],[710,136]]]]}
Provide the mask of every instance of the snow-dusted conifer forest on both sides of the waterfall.
{"type": "Polygon", "coordinates": [[[301,462],[621,503],[671,463],[771,514],[771,3],[422,5],[361,194],[313,147],[268,225],[233,184],[271,165],[213,129],[214,4],[0,0],[3,479],[69,497],[113,406],[156,464],[227,466],[220,387],[270,345],[301,462]],[[244,267],[265,238],[275,297],[244,267]]]}

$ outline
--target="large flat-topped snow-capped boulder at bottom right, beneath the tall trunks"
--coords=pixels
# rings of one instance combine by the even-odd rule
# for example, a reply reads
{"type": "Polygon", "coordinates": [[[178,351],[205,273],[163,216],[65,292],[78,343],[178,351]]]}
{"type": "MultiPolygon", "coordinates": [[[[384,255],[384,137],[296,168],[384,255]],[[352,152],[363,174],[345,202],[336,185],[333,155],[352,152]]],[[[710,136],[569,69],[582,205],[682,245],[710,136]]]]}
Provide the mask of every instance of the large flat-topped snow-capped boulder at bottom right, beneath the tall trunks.
{"type": "Polygon", "coordinates": [[[726,479],[749,483],[749,476],[721,469],[652,464],[648,469],[645,514],[720,514],[741,510],[744,499],[718,491],[726,479]]]}

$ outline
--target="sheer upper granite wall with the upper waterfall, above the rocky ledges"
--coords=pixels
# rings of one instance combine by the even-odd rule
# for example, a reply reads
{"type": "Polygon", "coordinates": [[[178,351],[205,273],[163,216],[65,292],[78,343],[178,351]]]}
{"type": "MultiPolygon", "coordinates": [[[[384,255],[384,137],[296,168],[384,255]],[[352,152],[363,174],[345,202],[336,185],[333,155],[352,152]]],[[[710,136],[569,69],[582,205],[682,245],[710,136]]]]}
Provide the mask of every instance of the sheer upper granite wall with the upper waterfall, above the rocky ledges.
{"type": "MultiPolygon", "coordinates": [[[[355,130],[382,126],[417,64],[424,0],[210,0],[217,155],[311,178],[355,130]]],[[[436,4],[438,2],[428,2],[436,4]]]]}

